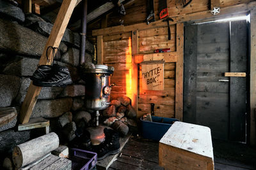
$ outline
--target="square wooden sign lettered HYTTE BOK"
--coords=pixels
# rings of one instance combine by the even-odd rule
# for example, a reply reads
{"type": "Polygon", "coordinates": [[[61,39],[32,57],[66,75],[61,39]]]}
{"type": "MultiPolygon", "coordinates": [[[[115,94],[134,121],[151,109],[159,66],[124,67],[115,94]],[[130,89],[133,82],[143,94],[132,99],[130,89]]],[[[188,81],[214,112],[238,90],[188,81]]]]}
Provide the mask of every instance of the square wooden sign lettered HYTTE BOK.
{"type": "Polygon", "coordinates": [[[164,61],[141,62],[142,89],[164,90],[164,61]]]}

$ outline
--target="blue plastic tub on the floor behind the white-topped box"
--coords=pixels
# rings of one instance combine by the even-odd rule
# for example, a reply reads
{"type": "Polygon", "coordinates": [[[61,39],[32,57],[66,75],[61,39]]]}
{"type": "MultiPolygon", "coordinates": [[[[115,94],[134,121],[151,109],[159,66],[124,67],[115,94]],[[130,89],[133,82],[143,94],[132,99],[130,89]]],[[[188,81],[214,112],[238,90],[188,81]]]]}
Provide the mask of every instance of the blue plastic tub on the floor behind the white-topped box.
{"type": "Polygon", "coordinates": [[[171,125],[179,121],[177,118],[152,117],[152,122],[141,120],[143,138],[160,141],[171,125]]]}

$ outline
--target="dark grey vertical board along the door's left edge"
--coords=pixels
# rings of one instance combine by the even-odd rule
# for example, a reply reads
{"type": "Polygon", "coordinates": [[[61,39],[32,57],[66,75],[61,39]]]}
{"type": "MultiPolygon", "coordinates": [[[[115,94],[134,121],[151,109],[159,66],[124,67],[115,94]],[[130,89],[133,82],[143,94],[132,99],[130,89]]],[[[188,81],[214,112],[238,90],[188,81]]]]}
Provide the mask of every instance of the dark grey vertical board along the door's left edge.
{"type": "Polygon", "coordinates": [[[184,122],[196,122],[196,63],[198,25],[185,27],[184,122]]]}

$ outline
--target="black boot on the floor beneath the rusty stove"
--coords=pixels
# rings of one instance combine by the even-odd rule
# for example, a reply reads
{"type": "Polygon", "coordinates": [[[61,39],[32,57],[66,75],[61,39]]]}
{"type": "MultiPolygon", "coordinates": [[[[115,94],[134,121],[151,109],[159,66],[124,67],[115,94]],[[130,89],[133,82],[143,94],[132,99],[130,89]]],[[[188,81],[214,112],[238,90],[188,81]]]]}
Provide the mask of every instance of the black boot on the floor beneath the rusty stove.
{"type": "Polygon", "coordinates": [[[97,159],[101,160],[108,155],[113,155],[120,152],[120,143],[118,132],[113,129],[104,129],[105,140],[100,145],[94,148],[94,152],[97,153],[97,159]]]}

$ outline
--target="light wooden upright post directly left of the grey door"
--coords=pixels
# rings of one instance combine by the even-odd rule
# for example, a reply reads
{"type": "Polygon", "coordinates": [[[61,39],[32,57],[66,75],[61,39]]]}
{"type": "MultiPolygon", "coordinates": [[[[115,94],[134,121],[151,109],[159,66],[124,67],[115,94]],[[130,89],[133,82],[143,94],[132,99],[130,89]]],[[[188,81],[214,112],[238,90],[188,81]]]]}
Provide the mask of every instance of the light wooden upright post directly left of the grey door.
{"type": "Polygon", "coordinates": [[[175,118],[182,121],[183,118],[183,48],[184,48],[184,24],[176,27],[176,76],[175,76],[175,118]]]}

